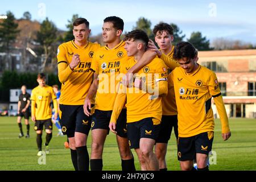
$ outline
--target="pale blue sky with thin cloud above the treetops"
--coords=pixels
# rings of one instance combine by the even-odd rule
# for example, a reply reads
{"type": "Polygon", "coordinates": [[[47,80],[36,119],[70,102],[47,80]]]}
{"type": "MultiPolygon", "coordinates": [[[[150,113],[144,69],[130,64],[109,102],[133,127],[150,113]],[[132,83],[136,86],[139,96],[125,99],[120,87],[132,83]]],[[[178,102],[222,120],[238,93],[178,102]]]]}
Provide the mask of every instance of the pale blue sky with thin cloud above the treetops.
{"type": "Polygon", "coordinates": [[[124,31],[131,31],[140,17],[147,18],[152,28],[160,21],[175,23],[185,34],[200,31],[211,42],[216,38],[241,40],[256,44],[256,1],[253,0],[1,0],[0,15],[11,11],[15,18],[22,18],[29,11],[32,20],[42,22],[46,17],[57,28],[65,26],[73,14],[90,22],[92,35],[101,33],[104,18],[119,16],[125,22],[124,31]]]}

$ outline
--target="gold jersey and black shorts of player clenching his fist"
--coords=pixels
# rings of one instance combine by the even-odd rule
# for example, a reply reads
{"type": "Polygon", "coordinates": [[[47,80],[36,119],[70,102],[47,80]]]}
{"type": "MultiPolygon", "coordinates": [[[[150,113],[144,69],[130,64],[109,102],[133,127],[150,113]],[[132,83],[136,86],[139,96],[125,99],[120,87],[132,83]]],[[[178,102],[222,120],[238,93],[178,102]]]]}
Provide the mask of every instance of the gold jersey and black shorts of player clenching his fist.
{"type": "MultiPolygon", "coordinates": [[[[77,46],[75,40],[63,43],[57,52],[58,76],[61,82],[60,124],[63,134],[69,138],[75,132],[88,135],[91,117],[84,114],[83,105],[86,94],[93,81],[90,70],[94,53],[100,44],[88,42],[85,46],[77,46]],[[80,63],[73,70],[69,67],[73,55],[78,54],[80,63]]],[[[92,102],[94,104],[94,101],[92,102]]]]}

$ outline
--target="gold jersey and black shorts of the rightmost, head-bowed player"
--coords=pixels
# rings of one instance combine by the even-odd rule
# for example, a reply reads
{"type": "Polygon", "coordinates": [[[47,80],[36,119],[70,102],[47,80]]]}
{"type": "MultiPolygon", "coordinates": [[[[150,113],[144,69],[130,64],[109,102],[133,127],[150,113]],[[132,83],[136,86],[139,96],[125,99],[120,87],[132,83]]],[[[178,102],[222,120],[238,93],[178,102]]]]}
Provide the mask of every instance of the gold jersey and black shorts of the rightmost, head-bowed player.
{"type": "Polygon", "coordinates": [[[178,111],[179,160],[193,160],[196,153],[207,154],[212,148],[214,118],[212,97],[216,103],[222,133],[228,133],[229,123],[216,74],[201,65],[193,73],[181,67],[171,73],[178,111]]]}

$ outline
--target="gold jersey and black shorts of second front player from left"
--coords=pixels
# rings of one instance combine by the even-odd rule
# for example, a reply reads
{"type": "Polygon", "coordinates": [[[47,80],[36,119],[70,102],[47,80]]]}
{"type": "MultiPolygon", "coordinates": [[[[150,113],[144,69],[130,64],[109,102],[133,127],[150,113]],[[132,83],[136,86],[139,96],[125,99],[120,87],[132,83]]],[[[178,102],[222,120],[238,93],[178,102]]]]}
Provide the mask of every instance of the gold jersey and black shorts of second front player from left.
{"type": "MultiPolygon", "coordinates": [[[[119,84],[120,67],[129,59],[125,50],[125,42],[121,41],[110,49],[101,47],[93,57],[91,69],[98,75],[98,89],[95,101],[95,113],[92,118],[92,130],[109,130],[109,122],[112,114],[117,86],[119,84]]],[[[119,137],[127,137],[126,109],[123,108],[118,118],[116,128],[119,137]]]]}

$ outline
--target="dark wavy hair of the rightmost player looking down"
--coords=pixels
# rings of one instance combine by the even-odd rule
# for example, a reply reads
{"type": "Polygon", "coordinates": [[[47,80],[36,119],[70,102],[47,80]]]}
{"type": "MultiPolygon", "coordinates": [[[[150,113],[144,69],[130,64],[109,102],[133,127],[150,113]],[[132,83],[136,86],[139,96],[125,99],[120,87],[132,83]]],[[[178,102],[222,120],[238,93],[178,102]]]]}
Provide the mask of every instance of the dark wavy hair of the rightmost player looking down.
{"type": "Polygon", "coordinates": [[[179,60],[183,57],[193,59],[197,55],[196,48],[189,42],[179,42],[174,48],[174,59],[179,60]]]}

